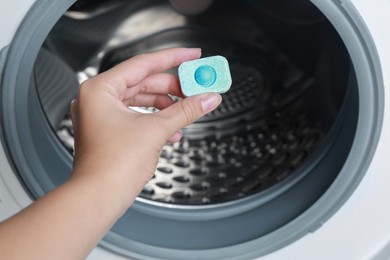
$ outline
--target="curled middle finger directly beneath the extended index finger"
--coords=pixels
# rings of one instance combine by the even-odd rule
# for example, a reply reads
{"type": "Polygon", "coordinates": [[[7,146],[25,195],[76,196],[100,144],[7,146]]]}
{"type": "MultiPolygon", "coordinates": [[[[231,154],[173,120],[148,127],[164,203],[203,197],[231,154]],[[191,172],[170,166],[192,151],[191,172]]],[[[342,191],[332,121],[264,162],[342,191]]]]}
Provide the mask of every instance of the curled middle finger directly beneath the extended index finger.
{"type": "Polygon", "coordinates": [[[137,94],[170,94],[183,97],[180,89],[179,78],[169,73],[151,75],[141,81],[137,86],[127,88],[124,99],[130,99],[137,94]]]}

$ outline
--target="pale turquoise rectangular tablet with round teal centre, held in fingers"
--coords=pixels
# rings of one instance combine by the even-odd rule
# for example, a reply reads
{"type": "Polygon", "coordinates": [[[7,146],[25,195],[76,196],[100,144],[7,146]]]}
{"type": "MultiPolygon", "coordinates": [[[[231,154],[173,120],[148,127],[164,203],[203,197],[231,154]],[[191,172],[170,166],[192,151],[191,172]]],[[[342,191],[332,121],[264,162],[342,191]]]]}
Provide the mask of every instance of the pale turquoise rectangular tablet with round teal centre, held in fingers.
{"type": "Polygon", "coordinates": [[[225,93],[232,85],[229,63],[222,56],[183,62],[179,66],[179,79],[186,97],[207,92],[225,93]]]}

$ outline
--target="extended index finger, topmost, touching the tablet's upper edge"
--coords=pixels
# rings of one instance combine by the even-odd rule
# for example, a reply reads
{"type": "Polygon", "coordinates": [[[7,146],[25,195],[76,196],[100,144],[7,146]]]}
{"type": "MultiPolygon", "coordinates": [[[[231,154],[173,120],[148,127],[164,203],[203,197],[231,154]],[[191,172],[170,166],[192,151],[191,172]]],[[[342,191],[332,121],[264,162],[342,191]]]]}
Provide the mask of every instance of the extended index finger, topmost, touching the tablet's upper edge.
{"type": "Polygon", "coordinates": [[[99,74],[96,79],[104,82],[105,87],[117,98],[123,98],[127,87],[139,84],[146,77],[176,67],[181,63],[199,58],[198,48],[172,48],[153,53],[141,54],[112,69],[99,74]]]}

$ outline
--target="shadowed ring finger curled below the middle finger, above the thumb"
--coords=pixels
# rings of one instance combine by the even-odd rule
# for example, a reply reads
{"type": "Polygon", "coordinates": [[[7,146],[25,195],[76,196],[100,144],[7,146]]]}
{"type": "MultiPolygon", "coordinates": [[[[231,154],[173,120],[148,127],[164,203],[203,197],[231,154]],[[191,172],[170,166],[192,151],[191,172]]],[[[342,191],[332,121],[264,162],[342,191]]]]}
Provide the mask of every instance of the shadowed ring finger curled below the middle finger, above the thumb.
{"type": "Polygon", "coordinates": [[[126,106],[155,107],[165,109],[175,103],[168,95],[139,94],[123,102],[126,106]]]}

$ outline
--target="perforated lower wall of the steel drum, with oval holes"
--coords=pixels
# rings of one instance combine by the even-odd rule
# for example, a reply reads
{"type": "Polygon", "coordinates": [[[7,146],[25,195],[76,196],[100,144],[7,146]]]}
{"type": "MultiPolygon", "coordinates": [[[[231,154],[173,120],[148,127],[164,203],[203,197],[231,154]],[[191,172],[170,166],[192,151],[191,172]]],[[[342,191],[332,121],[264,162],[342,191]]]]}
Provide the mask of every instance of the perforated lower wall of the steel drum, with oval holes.
{"type": "Polygon", "coordinates": [[[231,135],[184,138],[164,147],[141,197],[190,205],[242,198],[293,174],[320,138],[299,107],[231,135]]]}

